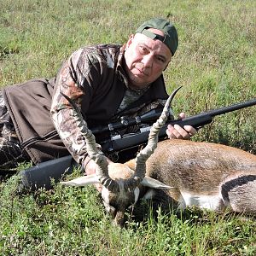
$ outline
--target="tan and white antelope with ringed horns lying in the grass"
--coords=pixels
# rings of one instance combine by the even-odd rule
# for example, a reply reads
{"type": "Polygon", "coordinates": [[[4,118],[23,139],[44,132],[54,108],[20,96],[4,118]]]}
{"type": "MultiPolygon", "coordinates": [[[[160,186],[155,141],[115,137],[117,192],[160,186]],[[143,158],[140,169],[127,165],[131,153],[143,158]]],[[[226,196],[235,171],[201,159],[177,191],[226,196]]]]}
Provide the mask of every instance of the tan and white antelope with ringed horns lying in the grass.
{"type": "MultiPolygon", "coordinates": [[[[151,128],[148,144],[136,159],[111,163],[96,148],[77,106],[74,113],[86,138],[88,154],[98,166],[96,174],[61,182],[69,186],[102,184],[102,200],[114,223],[122,225],[125,210],[139,198],[154,199],[165,191],[180,209],[197,206],[213,211],[230,207],[235,212],[256,213],[256,155],[215,143],[185,140],[158,142],[158,131],[167,119],[172,97],[151,128]],[[157,148],[156,148],[157,147],[157,148]]],[[[67,97],[67,96],[66,96],[67,97]]]]}

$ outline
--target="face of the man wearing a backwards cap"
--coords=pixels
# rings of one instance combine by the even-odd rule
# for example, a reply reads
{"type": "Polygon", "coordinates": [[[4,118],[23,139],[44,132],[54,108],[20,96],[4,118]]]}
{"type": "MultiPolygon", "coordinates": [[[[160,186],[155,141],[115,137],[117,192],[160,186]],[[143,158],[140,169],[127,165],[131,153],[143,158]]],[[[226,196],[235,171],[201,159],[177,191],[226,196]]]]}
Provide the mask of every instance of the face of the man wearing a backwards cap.
{"type": "MultiPolygon", "coordinates": [[[[154,28],[148,31],[161,36],[164,33],[154,28]]],[[[170,49],[160,40],[153,40],[137,33],[131,35],[125,48],[125,71],[132,89],[143,89],[158,79],[171,61],[170,49]]]]}

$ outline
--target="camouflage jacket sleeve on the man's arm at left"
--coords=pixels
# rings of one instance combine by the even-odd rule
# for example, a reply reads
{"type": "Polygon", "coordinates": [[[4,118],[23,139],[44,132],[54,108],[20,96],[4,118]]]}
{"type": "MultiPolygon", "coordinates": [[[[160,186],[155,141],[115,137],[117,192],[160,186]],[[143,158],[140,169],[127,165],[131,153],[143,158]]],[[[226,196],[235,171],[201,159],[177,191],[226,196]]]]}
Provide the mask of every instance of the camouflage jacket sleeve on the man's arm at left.
{"type": "Polygon", "coordinates": [[[79,49],[61,67],[55,82],[55,91],[50,111],[55,129],[58,131],[62,142],[70,154],[73,155],[74,160],[81,165],[84,165],[84,160],[87,157],[86,143],[73,117],[72,106],[61,96],[60,92],[73,99],[79,107],[82,96],[83,101],[87,99],[90,102],[90,83],[92,81],[86,81],[89,86],[85,86],[86,89],[84,89],[84,81],[88,73],[90,73],[90,60],[89,58],[86,60],[84,55],[82,56],[82,49],[79,49]],[[80,67],[79,63],[83,63],[83,67],[80,67]]]}

